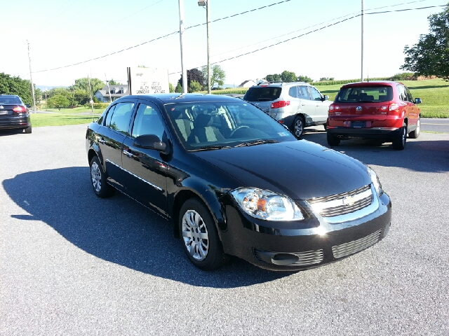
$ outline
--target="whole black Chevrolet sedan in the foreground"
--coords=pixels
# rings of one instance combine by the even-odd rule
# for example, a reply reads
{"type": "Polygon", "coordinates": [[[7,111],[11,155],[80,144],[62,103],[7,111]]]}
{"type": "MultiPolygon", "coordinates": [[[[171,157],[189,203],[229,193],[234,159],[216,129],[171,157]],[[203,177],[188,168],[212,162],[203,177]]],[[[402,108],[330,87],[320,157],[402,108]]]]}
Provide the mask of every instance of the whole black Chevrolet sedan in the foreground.
{"type": "Polygon", "coordinates": [[[389,230],[390,199],[372,169],[297,140],[241,99],[121,97],[88,126],[86,150],[95,193],[118,189],[166,218],[201,269],[228,255],[274,270],[316,267],[389,230]]]}

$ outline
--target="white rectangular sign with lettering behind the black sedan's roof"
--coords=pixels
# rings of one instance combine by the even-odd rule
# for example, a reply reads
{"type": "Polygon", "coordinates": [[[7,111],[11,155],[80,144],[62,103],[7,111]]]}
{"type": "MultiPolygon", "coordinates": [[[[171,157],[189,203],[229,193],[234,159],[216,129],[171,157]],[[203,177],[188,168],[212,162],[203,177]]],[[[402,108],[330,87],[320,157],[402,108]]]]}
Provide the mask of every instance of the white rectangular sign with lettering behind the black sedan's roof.
{"type": "Polygon", "coordinates": [[[170,93],[168,69],[128,68],[130,94],[170,93]]]}

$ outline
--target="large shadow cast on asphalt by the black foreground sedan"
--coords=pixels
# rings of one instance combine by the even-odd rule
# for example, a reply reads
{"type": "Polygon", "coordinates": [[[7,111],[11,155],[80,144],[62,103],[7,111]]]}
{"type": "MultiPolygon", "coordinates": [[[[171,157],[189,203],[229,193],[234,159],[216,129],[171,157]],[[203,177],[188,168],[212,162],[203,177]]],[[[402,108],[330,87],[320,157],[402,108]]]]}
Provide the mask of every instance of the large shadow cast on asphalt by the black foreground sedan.
{"type": "Polygon", "coordinates": [[[251,286],[293,273],[270,272],[239,258],[215,272],[203,272],[189,262],[168,221],[121,193],[96,197],[88,176],[88,167],[69,167],[5,180],[6,193],[27,211],[11,217],[43,221],[102,260],[193,286],[251,286]]]}

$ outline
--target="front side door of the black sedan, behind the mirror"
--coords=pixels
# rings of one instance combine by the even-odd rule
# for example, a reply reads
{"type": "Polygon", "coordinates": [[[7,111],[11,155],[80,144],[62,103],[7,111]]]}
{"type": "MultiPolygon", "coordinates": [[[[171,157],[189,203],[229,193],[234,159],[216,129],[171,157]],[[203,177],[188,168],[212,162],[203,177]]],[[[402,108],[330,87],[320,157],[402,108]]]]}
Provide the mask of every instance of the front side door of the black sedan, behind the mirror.
{"type": "Polygon", "coordinates": [[[133,126],[123,142],[123,169],[127,174],[127,193],[146,207],[168,217],[166,156],[154,149],[134,146],[137,137],[155,134],[168,142],[168,130],[161,111],[152,102],[139,100],[133,126]]]}

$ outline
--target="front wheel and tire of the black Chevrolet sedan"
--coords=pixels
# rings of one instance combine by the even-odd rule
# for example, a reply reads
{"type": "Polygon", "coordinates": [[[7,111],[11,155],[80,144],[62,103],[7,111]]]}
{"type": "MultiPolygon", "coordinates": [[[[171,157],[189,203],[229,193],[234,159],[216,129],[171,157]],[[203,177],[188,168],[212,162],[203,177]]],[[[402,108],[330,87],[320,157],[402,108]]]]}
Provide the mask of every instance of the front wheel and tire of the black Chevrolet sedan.
{"type": "Polygon", "coordinates": [[[178,218],[182,248],[199,269],[212,271],[227,262],[210,211],[197,198],[182,204],[178,218]]]}

